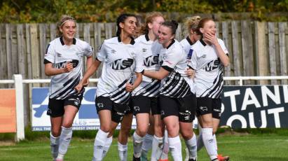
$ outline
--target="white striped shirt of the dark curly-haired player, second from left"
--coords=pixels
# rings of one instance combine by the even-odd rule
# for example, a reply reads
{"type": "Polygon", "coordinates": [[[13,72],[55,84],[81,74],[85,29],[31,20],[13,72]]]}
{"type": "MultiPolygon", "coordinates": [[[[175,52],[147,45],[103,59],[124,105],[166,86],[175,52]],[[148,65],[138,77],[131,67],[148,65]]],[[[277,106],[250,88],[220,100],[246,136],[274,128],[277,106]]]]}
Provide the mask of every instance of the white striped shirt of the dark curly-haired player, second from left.
{"type": "Polygon", "coordinates": [[[134,39],[130,44],[122,43],[120,37],[105,40],[97,54],[97,59],[103,62],[97,97],[109,97],[118,104],[128,103],[130,92],[125,91],[125,85],[132,83],[134,72],[143,70],[142,59],[137,58],[134,39]]]}

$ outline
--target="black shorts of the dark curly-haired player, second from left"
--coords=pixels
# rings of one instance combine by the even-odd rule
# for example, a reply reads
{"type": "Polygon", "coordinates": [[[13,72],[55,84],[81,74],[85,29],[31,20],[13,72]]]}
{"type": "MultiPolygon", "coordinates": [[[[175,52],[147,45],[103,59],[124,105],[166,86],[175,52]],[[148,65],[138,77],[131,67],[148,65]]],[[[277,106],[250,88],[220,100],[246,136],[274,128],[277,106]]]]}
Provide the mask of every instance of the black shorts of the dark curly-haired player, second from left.
{"type": "Polygon", "coordinates": [[[97,113],[101,110],[111,111],[111,120],[115,123],[121,123],[123,116],[128,111],[129,106],[127,104],[116,104],[109,97],[96,97],[95,106],[97,113]]]}

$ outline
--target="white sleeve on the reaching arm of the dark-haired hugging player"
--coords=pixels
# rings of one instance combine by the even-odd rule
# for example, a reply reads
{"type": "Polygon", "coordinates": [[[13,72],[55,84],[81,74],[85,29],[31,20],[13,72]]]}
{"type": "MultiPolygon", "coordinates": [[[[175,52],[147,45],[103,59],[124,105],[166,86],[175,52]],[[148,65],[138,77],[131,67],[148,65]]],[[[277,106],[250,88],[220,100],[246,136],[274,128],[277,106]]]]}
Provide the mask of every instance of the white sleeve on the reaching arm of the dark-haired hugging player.
{"type": "Polygon", "coordinates": [[[181,56],[178,55],[178,53],[179,52],[175,50],[165,53],[163,55],[163,64],[161,67],[167,71],[172,71],[181,59],[181,56]]]}

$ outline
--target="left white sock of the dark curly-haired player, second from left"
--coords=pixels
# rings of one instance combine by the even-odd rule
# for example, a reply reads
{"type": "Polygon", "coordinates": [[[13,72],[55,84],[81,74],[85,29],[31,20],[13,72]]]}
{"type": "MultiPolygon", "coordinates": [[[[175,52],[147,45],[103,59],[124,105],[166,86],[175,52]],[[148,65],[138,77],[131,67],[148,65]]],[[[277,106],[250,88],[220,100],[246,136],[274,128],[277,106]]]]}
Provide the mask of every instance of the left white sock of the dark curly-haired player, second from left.
{"type": "Polygon", "coordinates": [[[102,160],[104,146],[107,142],[109,132],[103,132],[99,129],[94,141],[93,161],[102,160]]]}

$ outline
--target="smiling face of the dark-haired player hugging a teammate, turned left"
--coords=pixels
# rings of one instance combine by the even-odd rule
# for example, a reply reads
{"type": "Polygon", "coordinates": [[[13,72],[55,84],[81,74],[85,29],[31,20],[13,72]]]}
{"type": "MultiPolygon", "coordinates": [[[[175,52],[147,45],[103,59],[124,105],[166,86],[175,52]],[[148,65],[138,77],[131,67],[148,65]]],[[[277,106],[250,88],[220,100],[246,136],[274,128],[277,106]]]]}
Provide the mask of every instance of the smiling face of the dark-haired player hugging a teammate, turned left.
{"type": "Polygon", "coordinates": [[[158,42],[167,48],[167,46],[174,39],[174,34],[172,34],[172,29],[164,25],[160,25],[158,29],[158,42]]]}

